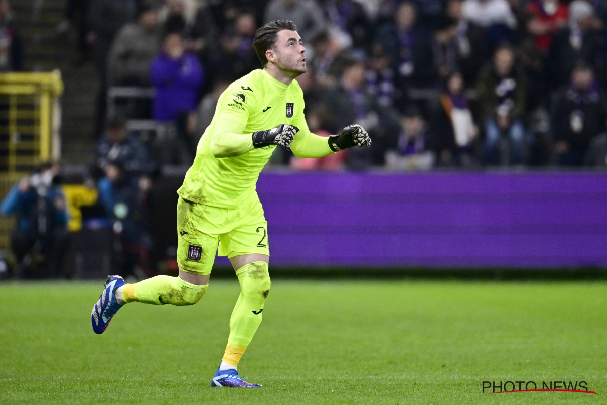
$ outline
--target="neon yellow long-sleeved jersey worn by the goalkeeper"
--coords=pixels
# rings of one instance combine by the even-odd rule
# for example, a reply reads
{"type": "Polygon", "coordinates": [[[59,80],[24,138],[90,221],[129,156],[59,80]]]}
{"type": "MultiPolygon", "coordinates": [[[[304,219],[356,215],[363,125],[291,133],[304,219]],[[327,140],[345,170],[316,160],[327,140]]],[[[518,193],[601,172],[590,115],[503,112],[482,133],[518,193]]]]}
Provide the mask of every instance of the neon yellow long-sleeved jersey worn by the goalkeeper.
{"type": "MultiPolygon", "coordinates": [[[[183,199],[222,208],[239,208],[257,199],[259,172],[276,145],[236,157],[216,158],[211,143],[222,133],[251,134],[279,124],[299,128],[292,146],[311,135],[304,117],[304,94],[297,81],[287,86],[262,69],[234,81],[220,96],[215,116],[198,142],[194,164],[177,193],[183,199]]],[[[329,152],[327,144],[324,154],[329,152]]]]}

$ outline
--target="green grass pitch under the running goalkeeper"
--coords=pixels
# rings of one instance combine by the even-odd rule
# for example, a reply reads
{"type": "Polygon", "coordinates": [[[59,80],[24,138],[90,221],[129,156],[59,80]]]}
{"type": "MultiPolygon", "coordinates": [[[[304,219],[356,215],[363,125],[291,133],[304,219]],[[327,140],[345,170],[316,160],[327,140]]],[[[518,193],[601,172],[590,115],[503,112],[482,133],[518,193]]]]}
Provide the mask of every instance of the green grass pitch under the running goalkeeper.
{"type": "Polygon", "coordinates": [[[0,284],[0,403],[607,403],[603,282],[274,281],[239,367],[257,390],[210,387],[236,277],[192,307],[129,304],[98,336],[100,292],[0,284]],[[484,380],[598,395],[489,395],[484,380]]]}

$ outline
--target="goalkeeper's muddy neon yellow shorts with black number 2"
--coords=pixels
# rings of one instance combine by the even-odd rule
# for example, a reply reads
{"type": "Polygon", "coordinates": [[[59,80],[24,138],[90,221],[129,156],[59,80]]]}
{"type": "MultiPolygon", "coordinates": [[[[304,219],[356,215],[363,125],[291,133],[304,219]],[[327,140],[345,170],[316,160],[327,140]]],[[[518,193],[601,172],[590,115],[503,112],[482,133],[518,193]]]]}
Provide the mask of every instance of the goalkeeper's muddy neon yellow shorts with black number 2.
{"type": "Polygon", "coordinates": [[[215,254],[270,256],[268,223],[258,199],[243,208],[177,202],[177,264],[192,274],[211,274],[215,254]],[[219,248],[218,248],[219,247],[219,248]]]}

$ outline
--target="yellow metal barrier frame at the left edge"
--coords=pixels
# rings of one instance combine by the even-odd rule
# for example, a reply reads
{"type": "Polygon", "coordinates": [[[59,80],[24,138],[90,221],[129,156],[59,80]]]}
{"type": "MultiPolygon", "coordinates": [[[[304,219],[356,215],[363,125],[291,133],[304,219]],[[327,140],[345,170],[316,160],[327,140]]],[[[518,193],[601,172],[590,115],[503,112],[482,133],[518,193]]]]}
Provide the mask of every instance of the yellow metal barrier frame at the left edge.
{"type": "Polygon", "coordinates": [[[59,70],[0,73],[0,175],[59,159],[61,93],[59,70]]]}

